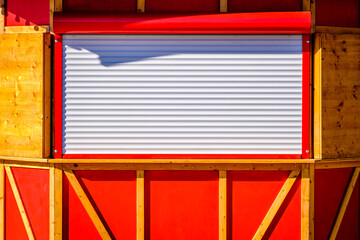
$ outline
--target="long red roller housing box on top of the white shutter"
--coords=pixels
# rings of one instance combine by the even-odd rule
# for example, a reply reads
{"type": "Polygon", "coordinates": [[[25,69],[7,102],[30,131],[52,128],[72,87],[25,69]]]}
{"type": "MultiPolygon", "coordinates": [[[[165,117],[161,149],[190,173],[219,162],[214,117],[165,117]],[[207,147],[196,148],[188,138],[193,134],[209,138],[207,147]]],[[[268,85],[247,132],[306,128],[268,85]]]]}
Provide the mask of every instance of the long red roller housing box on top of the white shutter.
{"type": "Polygon", "coordinates": [[[58,34],[304,34],[310,12],[227,14],[56,14],[58,34]]]}

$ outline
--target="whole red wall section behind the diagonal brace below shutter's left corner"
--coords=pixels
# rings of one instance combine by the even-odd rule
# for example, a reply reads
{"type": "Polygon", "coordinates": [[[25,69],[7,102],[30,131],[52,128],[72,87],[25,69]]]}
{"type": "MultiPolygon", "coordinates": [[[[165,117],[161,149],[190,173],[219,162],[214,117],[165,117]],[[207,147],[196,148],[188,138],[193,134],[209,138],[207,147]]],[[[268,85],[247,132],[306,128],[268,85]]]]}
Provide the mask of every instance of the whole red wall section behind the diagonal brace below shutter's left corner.
{"type": "MultiPolygon", "coordinates": [[[[75,175],[110,235],[136,239],[136,172],[76,171],[75,175]]],[[[101,239],[66,177],[63,197],[67,239],[101,239]]]]}

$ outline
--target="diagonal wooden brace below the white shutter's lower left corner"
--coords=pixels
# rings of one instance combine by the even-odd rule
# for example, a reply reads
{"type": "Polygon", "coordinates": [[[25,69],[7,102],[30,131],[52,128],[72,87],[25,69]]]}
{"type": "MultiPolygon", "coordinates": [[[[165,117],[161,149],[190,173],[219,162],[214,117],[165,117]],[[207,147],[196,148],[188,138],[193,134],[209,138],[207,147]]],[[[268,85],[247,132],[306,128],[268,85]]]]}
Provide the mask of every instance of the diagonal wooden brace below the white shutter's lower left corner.
{"type": "Polygon", "coordinates": [[[86,196],[84,189],[81,187],[79,181],[77,180],[75,174],[71,170],[65,170],[65,175],[69,179],[71,186],[73,187],[76,195],[79,197],[82,205],[84,206],[86,212],[88,213],[90,219],[92,220],[95,228],[98,230],[102,239],[111,239],[109,233],[107,232],[103,222],[99,218],[97,212],[95,211],[94,207],[92,206],[90,200],[86,196]]]}

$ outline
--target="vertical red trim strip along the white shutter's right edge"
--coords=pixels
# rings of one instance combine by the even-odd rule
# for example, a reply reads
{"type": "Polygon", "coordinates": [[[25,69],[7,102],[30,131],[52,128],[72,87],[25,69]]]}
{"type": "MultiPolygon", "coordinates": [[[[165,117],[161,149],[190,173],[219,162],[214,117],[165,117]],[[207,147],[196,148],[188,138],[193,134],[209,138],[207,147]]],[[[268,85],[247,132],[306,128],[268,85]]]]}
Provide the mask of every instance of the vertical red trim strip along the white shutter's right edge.
{"type": "Polygon", "coordinates": [[[310,35],[303,35],[302,158],[310,157],[310,35]]]}

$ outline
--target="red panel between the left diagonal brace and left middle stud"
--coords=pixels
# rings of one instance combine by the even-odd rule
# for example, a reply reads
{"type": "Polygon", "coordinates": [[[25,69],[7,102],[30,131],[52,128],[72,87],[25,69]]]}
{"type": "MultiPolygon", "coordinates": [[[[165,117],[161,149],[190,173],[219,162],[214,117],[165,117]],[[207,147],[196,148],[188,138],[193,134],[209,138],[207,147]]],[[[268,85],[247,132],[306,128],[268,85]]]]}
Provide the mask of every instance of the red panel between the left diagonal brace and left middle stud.
{"type": "Polygon", "coordinates": [[[136,171],[76,171],[114,239],[136,239],[136,171]]]}

